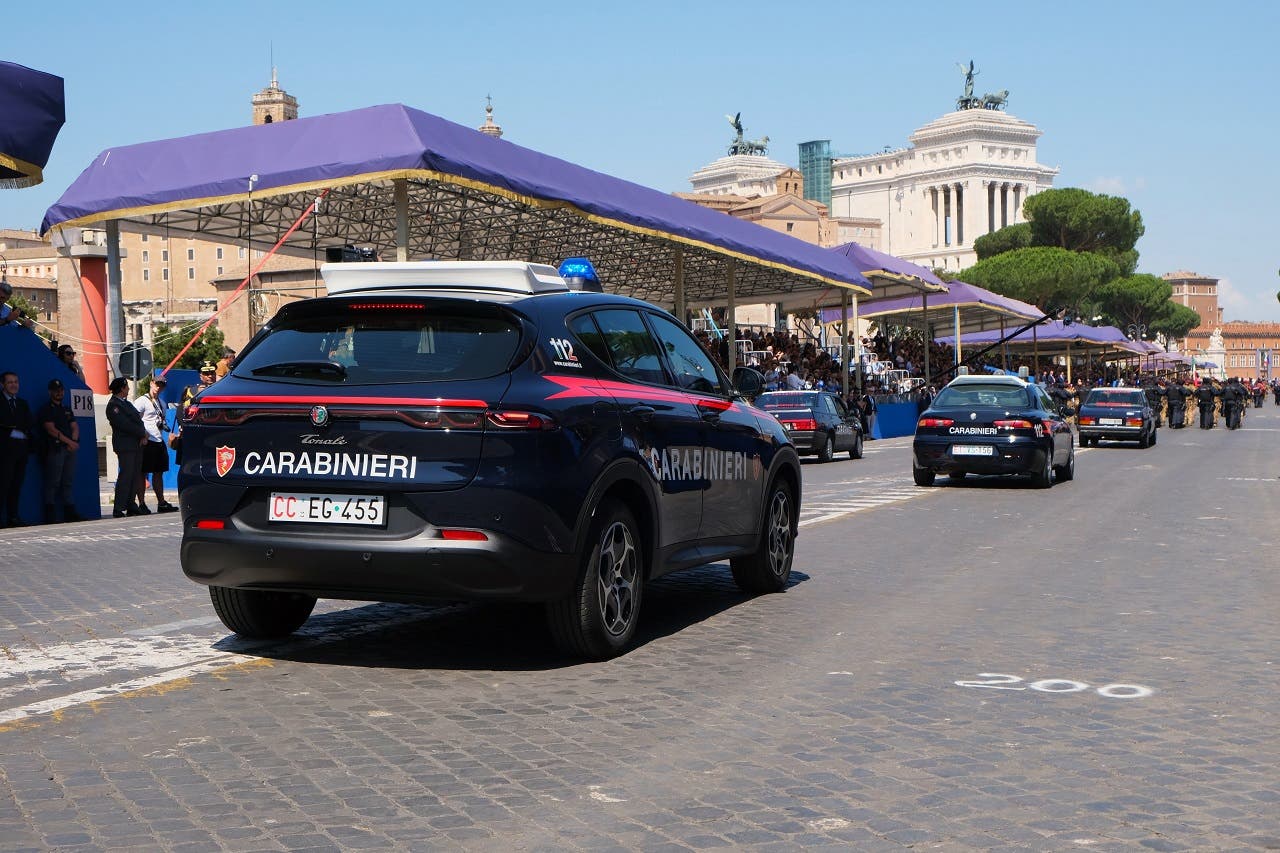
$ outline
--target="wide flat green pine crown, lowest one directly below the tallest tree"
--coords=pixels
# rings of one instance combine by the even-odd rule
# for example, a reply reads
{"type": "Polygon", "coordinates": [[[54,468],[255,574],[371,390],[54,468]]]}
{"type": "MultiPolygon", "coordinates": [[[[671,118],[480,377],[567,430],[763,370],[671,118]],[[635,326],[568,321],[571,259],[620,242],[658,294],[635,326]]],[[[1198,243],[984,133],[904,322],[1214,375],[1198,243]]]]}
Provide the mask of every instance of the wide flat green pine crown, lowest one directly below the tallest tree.
{"type": "Polygon", "coordinates": [[[1047,313],[1064,309],[1079,313],[1117,274],[1116,265],[1101,255],[1037,246],[980,260],[961,278],[1047,313]]]}

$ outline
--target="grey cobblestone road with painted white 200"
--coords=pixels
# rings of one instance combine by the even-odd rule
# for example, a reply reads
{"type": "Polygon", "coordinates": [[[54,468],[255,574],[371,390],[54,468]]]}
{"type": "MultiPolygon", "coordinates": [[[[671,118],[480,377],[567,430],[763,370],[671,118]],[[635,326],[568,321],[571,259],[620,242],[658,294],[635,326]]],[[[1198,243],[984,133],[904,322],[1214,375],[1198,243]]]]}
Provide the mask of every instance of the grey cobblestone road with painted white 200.
{"type": "Polygon", "coordinates": [[[795,583],[328,602],[243,643],[172,516],[0,533],[0,849],[1280,848],[1274,407],[1050,491],[805,465],[795,583]]]}

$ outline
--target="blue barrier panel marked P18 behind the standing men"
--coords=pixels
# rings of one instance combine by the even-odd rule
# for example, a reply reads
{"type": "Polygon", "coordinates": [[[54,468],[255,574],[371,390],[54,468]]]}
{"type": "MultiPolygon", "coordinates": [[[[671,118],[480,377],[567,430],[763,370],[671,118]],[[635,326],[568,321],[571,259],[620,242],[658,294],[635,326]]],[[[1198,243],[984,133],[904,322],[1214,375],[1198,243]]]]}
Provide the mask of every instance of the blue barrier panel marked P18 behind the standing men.
{"type": "MultiPolygon", "coordinates": [[[[33,420],[40,407],[49,402],[49,380],[63,380],[67,392],[63,402],[72,407],[76,423],[79,425],[79,450],[76,452],[72,500],[82,519],[101,517],[97,493],[97,428],[93,424],[93,392],[58,360],[44,338],[29,329],[12,324],[0,327],[0,370],[12,370],[18,374],[18,397],[26,400],[27,405],[31,406],[33,420]]],[[[31,453],[27,457],[27,470],[18,501],[18,515],[27,524],[44,521],[44,484],[42,460],[36,453],[31,453]]]]}

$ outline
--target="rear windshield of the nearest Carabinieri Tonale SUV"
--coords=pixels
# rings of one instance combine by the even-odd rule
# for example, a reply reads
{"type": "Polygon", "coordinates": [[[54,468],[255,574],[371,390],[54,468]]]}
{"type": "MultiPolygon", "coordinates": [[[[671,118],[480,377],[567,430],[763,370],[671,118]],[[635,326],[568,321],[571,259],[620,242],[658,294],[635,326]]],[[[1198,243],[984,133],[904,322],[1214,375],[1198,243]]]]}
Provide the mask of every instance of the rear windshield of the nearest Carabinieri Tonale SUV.
{"type": "Polygon", "coordinates": [[[276,318],[236,365],[237,377],[317,384],[480,379],[507,370],[517,320],[492,311],[397,305],[276,318]]]}

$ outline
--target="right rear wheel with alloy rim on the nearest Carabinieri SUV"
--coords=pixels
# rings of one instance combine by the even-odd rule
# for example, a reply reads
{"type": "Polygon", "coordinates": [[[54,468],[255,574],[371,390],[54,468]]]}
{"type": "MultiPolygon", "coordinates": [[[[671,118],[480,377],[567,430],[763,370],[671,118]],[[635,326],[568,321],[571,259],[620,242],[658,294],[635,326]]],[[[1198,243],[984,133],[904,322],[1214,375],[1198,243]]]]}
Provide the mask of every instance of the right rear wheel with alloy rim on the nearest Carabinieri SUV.
{"type": "Polygon", "coordinates": [[[573,592],[547,605],[556,646],[573,657],[604,661],[636,631],[644,590],[640,528],[621,502],[605,500],[588,533],[573,592]]]}

